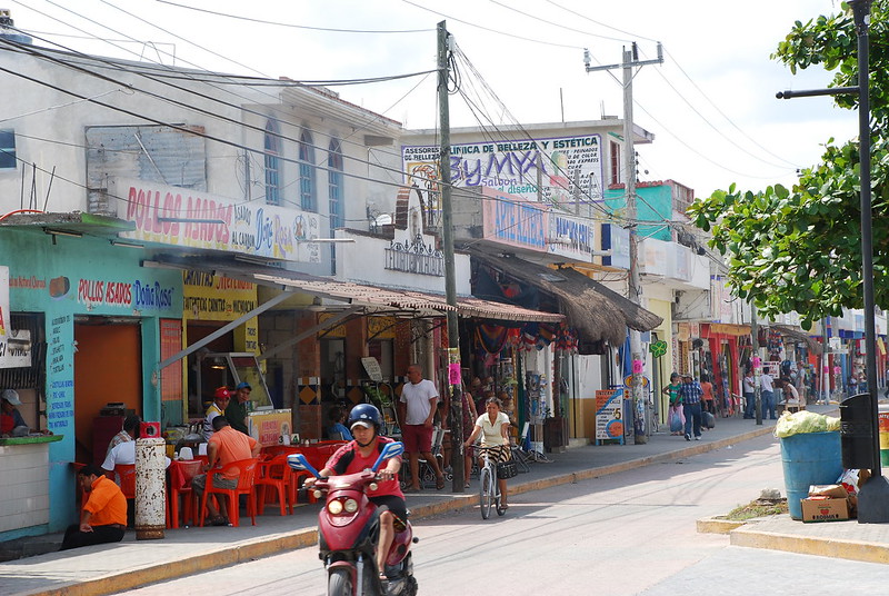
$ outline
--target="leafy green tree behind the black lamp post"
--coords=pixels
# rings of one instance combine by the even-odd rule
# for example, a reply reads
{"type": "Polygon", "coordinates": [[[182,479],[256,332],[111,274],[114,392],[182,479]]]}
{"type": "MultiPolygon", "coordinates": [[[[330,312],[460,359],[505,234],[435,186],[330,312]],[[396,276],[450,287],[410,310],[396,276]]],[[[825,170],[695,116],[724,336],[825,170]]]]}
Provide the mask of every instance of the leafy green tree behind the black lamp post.
{"type": "MultiPolygon", "coordinates": [[[[797,21],[772,59],[791,72],[822,64],[831,87],[858,85],[857,36],[851,9],[797,21]]],[[[877,305],[889,305],[889,0],[871,6],[870,103],[873,275],[877,305]]],[[[833,96],[856,110],[857,95],[833,96]]],[[[850,115],[855,118],[855,115],[850,115]]],[[[802,170],[792,189],[740,191],[735,185],[689,209],[695,225],[712,231],[710,246],[728,258],[728,280],[739,298],[769,317],[796,311],[803,328],[843,308],[861,308],[861,236],[858,140],[825,145],[821,162],[802,170]]]]}

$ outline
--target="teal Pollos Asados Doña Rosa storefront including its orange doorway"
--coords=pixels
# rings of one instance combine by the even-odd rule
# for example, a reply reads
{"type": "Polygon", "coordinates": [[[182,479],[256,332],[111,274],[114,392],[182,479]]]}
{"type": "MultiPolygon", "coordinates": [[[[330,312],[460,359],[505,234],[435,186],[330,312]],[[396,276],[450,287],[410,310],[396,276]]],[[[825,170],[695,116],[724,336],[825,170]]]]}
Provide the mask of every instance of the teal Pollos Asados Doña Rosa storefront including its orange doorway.
{"type": "MultiPolygon", "coordinates": [[[[181,328],[179,272],[144,268],[142,251],[108,239],[56,231],[0,235],[0,255],[14,257],[1,264],[9,268],[9,308],[30,326],[31,358],[26,367],[2,369],[3,385],[22,389],[22,414],[33,429],[57,437],[41,468],[48,493],[32,495],[52,507],[38,517],[17,516],[14,527],[0,528],[0,539],[59,532],[77,518],[70,463],[101,461],[121,413],[161,418],[169,389],[157,374],[162,330],[181,328]]],[[[0,458],[17,448],[2,447],[0,458]]],[[[12,505],[0,499],[0,518],[12,505]]]]}

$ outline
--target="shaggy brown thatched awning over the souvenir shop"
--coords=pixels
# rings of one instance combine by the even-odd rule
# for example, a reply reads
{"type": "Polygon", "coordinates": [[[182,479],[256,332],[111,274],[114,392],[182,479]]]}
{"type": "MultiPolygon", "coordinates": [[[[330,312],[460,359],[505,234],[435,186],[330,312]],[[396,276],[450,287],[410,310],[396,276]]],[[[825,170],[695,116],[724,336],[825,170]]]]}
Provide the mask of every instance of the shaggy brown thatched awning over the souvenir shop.
{"type": "Polygon", "coordinates": [[[581,339],[623,344],[627,327],[649,331],[663,319],[605,285],[570,268],[550,269],[512,256],[468,251],[473,259],[507,276],[543,290],[558,299],[568,325],[581,339]]]}

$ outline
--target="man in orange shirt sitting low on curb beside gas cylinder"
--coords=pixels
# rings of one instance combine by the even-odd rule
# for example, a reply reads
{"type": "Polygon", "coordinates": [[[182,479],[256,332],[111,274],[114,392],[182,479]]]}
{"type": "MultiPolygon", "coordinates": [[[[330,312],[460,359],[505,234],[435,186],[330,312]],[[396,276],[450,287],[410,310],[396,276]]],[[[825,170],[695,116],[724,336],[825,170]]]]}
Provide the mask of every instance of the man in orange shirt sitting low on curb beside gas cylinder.
{"type": "Polygon", "coordinates": [[[59,550],[122,540],[127,529],[127,498],[120,487],[92,464],[83,466],[77,478],[87,503],[80,524],[68,526],[59,550]]]}

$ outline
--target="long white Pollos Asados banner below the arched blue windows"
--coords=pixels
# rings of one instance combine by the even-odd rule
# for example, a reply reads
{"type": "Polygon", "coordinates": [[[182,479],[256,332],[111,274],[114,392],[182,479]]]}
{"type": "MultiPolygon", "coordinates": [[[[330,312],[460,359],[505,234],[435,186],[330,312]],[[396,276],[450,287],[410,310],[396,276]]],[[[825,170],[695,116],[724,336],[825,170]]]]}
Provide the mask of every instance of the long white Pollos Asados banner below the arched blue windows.
{"type": "Polygon", "coordinates": [[[318,213],[246,203],[189,188],[109,179],[109,193],[126,203],[121,218],[136,230],[121,237],[273,259],[321,262],[318,213]]]}

